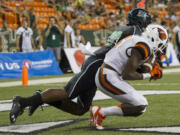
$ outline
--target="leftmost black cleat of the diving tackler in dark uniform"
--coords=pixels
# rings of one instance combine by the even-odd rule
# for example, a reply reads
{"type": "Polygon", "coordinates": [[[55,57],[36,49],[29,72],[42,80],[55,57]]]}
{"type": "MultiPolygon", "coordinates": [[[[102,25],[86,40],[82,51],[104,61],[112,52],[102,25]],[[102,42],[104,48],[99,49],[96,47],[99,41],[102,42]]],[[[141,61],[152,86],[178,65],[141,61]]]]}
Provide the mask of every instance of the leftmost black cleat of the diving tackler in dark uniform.
{"type": "Polygon", "coordinates": [[[11,124],[16,122],[16,119],[19,115],[22,115],[24,112],[24,107],[21,106],[20,104],[20,100],[22,98],[20,96],[15,96],[13,98],[13,104],[12,104],[12,108],[9,114],[9,118],[10,118],[10,122],[11,124]]]}

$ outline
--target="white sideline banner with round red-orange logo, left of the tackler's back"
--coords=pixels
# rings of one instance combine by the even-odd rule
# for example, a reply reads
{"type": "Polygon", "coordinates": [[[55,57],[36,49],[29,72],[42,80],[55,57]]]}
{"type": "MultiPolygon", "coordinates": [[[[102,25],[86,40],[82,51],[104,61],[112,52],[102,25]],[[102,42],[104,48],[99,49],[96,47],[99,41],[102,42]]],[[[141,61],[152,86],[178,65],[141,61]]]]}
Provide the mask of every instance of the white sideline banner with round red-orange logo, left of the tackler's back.
{"type": "MultiPolygon", "coordinates": [[[[99,49],[99,47],[89,48],[90,52],[94,52],[99,49]]],[[[74,73],[79,73],[81,71],[81,66],[83,62],[89,57],[83,53],[80,48],[64,48],[65,55],[74,73]]]]}

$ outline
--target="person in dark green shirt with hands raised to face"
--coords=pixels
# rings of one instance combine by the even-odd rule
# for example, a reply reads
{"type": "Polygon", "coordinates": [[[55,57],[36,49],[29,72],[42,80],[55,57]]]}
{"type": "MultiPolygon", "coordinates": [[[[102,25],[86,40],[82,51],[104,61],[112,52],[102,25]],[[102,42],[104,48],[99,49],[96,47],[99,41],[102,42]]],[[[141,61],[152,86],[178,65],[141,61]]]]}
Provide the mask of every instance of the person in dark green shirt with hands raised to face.
{"type": "Polygon", "coordinates": [[[55,17],[49,18],[50,24],[45,29],[45,36],[47,38],[47,49],[52,49],[56,56],[57,63],[61,60],[61,39],[63,36],[63,29],[57,24],[55,17]]]}

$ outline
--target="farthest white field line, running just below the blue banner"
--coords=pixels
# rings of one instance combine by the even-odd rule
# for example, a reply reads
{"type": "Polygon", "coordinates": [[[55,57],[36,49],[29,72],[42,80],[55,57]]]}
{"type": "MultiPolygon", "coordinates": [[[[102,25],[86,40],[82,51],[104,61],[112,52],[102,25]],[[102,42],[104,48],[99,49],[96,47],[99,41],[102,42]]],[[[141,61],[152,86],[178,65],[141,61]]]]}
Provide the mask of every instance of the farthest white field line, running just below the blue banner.
{"type": "MultiPolygon", "coordinates": [[[[177,73],[180,72],[180,68],[173,68],[173,69],[164,69],[164,74],[169,73],[177,73]]],[[[57,77],[57,78],[49,78],[49,79],[38,79],[38,80],[29,80],[28,85],[39,85],[39,84],[49,84],[49,83],[66,83],[72,77],[57,77]]],[[[13,81],[13,82],[1,82],[0,87],[12,87],[12,86],[21,86],[21,81],[13,81]]]]}

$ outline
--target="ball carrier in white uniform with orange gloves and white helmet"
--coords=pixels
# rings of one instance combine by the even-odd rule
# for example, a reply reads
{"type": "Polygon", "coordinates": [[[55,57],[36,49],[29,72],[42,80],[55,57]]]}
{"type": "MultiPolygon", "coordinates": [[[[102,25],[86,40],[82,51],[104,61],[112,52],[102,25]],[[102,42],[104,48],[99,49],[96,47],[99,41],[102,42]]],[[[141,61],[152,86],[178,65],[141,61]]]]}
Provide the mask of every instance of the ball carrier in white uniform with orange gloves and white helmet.
{"type": "Polygon", "coordinates": [[[146,98],[126,80],[160,79],[162,69],[158,64],[154,65],[150,73],[138,73],[137,69],[151,56],[155,58],[158,52],[163,53],[167,40],[165,28],[150,24],[142,36],[124,38],[106,54],[103,65],[96,73],[96,86],[121,104],[111,107],[91,106],[91,126],[103,129],[102,121],[106,116],[139,116],[146,111],[146,98]]]}

